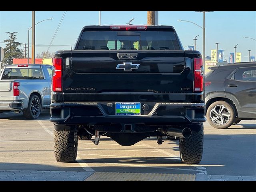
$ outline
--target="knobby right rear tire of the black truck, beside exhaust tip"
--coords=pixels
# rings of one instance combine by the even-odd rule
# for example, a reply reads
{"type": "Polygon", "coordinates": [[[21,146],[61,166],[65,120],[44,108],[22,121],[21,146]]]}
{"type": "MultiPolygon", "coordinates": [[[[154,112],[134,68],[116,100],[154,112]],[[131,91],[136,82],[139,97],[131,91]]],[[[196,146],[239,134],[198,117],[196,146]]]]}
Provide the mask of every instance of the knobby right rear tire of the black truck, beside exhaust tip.
{"type": "Polygon", "coordinates": [[[180,138],[180,159],[183,163],[198,164],[202,159],[204,125],[199,126],[199,131],[192,131],[190,138],[180,138]]]}

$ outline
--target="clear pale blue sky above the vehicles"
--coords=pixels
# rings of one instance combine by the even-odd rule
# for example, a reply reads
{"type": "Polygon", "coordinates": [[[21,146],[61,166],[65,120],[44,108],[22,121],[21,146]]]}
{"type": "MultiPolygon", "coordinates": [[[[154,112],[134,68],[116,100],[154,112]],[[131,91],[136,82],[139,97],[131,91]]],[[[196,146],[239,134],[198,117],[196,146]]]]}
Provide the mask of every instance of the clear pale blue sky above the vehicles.
{"type": "MultiPolygon", "coordinates": [[[[36,54],[48,49],[63,13],[64,11],[36,11],[36,23],[54,18],[36,25],[36,54]]],[[[101,11],[102,25],[126,24],[132,18],[135,18],[132,24],[146,24],[147,11],[101,11]]],[[[202,26],[203,14],[194,11],[159,11],[159,24],[173,26],[184,47],[192,46],[193,38],[199,35],[196,49],[202,53],[202,29],[189,22],[178,22],[179,19],[202,26]]],[[[16,41],[28,43],[28,28],[31,24],[32,11],[0,11],[0,46],[5,47],[3,41],[8,38],[6,32],[18,32],[16,41]]],[[[98,24],[99,11],[67,11],[49,51],[70,50],[84,26],[98,24]]],[[[205,16],[205,28],[206,56],[210,56],[211,49],[216,49],[217,42],[220,43],[218,49],[224,50],[224,57],[228,62],[229,53],[234,52],[236,44],[236,52],[241,52],[242,62],[248,61],[248,50],[252,50],[250,56],[256,56],[256,41],[243,38],[246,36],[256,39],[256,11],[208,12],[205,16]]]]}

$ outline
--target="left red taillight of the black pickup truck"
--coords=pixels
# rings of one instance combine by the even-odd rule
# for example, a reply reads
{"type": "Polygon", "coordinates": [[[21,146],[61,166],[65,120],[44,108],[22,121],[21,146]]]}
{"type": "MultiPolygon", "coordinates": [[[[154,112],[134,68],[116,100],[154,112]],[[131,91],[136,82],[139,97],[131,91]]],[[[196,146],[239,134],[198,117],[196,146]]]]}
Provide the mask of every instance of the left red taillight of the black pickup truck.
{"type": "Polygon", "coordinates": [[[62,58],[53,58],[54,74],[52,76],[52,90],[62,92],[62,58]]]}

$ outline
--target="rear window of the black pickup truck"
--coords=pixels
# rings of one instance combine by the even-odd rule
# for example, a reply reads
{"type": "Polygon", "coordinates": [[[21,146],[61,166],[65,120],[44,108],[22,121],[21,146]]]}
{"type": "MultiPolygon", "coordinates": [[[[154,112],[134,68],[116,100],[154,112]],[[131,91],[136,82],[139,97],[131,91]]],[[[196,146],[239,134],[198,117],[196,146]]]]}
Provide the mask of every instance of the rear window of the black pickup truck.
{"type": "Polygon", "coordinates": [[[76,50],[180,50],[172,31],[84,31],[76,50]]]}

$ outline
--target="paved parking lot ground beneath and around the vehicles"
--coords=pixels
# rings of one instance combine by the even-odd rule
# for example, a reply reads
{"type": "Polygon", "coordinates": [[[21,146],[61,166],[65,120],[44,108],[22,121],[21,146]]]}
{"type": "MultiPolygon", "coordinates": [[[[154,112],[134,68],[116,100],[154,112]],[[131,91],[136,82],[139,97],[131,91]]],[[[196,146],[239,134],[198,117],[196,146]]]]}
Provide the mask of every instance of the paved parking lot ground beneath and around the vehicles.
{"type": "Polygon", "coordinates": [[[54,158],[49,110],[36,120],[22,113],[0,114],[0,181],[256,181],[256,121],[228,129],[204,123],[200,164],[183,164],[178,140],[155,137],[120,146],[102,136],[99,145],[78,141],[75,163],[54,158]]]}

